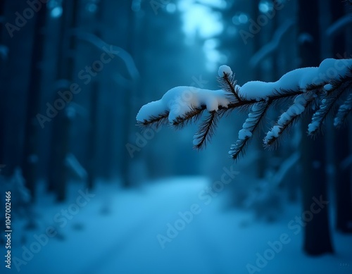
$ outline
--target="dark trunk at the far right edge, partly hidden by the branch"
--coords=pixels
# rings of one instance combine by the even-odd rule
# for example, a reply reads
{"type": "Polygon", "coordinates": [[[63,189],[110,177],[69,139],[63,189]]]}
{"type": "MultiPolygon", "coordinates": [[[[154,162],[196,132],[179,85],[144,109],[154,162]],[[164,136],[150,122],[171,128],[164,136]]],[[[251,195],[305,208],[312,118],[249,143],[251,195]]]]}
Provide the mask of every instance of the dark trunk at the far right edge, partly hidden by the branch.
{"type": "MultiPolygon", "coordinates": [[[[330,1],[332,23],[344,16],[344,4],[330,1]]],[[[344,56],[346,52],[345,32],[334,37],[332,54],[334,58],[344,56]]],[[[335,185],[336,185],[336,228],[341,232],[352,232],[352,192],[351,170],[343,162],[349,156],[349,132],[347,127],[334,131],[335,135],[335,185]]]]}

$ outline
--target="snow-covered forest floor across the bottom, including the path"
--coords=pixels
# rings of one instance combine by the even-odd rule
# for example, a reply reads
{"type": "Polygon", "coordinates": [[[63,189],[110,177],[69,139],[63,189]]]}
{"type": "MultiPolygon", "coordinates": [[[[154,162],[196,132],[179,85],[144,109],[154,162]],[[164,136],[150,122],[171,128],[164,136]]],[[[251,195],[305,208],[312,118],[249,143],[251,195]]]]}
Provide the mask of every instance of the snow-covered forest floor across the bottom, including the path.
{"type": "MultiPolygon", "coordinates": [[[[222,195],[199,199],[208,183],[206,178],[173,178],[132,190],[101,183],[92,192],[95,196],[85,200],[77,199],[82,196],[78,189],[85,192],[84,187],[73,185],[64,204],[53,204],[53,197],[39,193],[39,228],[25,232],[24,245],[30,248],[38,242],[34,235],[50,225],[59,237],[44,241],[32,259],[19,266],[20,273],[237,274],[251,273],[248,263],[260,270],[252,273],[260,274],[352,273],[351,235],[333,231],[334,255],[305,256],[303,231],[295,235],[288,228],[301,214],[299,204],[285,206],[277,223],[259,223],[249,213],[227,208],[222,195]],[[188,215],[189,223],[182,222],[179,212],[190,210],[197,214],[188,215]],[[157,235],[167,237],[167,224],[175,222],[184,228],[162,249],[157,235]],[[270,251],[268,242],[279,241],[284,233],[290,241],[270,251]],[[258,256],[270,260],[256,262],[258,256]]],[[[12,254],[22,259],[23,247],[13,244],[12,254]]],[[[11,271],[1,270],[9,272],[17,273],[14,261],[11,271]]]]}

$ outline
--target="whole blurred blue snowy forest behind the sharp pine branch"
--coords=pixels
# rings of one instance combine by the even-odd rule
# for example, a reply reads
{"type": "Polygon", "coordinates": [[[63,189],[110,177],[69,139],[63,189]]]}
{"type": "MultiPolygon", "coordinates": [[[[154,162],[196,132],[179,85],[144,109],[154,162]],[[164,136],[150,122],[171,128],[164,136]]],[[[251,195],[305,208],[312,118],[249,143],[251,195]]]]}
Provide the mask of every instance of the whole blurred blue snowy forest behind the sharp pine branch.
{"type": "Polygon", "coordinates": [[[351,273],[350,122],[328,119],[313,142],[307,119],[266,151],[278,105],[234,163],[244,113],[203,151],[195,125],[135,120],[172,87],[218,89],[222,64],[243,85],[351,58],[351,13],[339,0],[0,1],[1,273],[351,273]]]}

